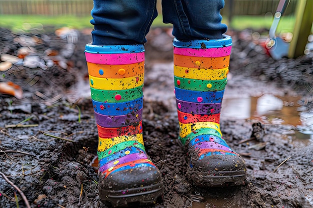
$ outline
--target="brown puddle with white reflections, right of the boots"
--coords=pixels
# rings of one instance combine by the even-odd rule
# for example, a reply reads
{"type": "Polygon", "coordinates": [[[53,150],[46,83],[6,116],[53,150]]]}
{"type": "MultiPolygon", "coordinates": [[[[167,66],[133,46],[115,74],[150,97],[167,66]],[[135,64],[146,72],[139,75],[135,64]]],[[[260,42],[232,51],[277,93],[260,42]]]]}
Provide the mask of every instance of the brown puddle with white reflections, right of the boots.
{"type": "Polygon", "coordinates": [[[294,139],[313,143],[313,112],[304,112],[300,97],[263,94],[259,97],[224,98],[222,118],[257,119],[263,124],[290,124],[294,139]]]}

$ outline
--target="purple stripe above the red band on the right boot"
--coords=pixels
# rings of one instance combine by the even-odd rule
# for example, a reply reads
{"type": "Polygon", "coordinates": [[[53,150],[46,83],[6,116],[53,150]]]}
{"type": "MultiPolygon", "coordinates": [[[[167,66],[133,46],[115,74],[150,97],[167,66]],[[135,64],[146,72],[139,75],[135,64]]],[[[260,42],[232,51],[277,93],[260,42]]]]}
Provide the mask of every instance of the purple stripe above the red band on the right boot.
{"type": "Polygon", "coordinates": [[[210,115],[220,112],[221,103],[192,103],[176,99],[176,106],[184,113],[210,115]]]}

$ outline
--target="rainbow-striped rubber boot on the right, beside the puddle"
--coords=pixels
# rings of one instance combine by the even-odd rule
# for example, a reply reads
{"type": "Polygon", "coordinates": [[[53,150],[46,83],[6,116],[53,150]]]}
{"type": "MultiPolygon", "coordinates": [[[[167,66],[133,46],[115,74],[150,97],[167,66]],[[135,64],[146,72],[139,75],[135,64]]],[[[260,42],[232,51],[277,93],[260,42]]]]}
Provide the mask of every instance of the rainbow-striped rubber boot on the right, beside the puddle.
{"type": "Polygon", "coordinates": [[[231,38],[173,41],[179,139],[189,158],[188,178],[200,187],[244,185],[244,160],[219,128],[231,38]]]}

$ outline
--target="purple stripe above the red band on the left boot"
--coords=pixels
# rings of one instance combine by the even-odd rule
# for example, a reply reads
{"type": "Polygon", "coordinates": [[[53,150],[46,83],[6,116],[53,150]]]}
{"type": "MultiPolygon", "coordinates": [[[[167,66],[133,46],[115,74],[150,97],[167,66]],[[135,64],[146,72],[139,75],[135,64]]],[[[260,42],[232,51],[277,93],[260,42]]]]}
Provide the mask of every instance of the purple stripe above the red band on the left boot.
{"type": "Polygon", "coordinates": [[[142,108],[134,114],[122,116],[106,116],[94,112],[95,121],[98,125],[106,128],[118,128],[123,126],[134,125],[141,121],[142,108]]]}

